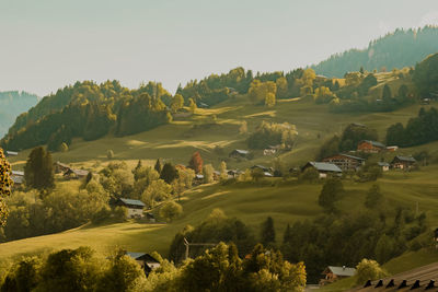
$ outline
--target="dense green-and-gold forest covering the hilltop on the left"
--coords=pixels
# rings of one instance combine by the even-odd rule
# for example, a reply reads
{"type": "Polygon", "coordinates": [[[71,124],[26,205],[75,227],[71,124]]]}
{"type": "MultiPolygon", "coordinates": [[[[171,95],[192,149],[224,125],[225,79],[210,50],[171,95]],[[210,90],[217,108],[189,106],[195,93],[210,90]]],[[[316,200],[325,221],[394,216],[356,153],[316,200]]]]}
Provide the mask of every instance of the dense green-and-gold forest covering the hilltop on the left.
{"type": "Polygon", "coordinates": [[[74,137],[95,140],[110,132],[125,136],[145,131],[170,121],[161,101],[166,96],[170,94],[161,84],[153,82],[138,90],[123,87],[118,81],[77,82],[20,115],[1,145],[20,150],[47,144],[57,151],[74,137]]]}

